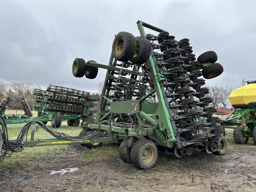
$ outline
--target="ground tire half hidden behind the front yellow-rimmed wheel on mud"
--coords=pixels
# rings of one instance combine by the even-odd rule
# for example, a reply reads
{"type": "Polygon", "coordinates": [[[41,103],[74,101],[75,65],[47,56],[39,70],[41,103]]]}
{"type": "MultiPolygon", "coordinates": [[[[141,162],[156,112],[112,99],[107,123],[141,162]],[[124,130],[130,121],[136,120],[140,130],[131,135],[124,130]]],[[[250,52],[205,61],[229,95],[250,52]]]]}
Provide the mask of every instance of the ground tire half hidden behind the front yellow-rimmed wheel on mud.
{"type": "MultiPolygon", "coordinates": [[[[139,138],[137,137],[133,138],[134,143],[138,140],[139,138]]],[[[128,139],[123,140],[119,147],[119,156],[125,163],[132,164],[131,150],[132,147],[128,147],[128,139]]]]}

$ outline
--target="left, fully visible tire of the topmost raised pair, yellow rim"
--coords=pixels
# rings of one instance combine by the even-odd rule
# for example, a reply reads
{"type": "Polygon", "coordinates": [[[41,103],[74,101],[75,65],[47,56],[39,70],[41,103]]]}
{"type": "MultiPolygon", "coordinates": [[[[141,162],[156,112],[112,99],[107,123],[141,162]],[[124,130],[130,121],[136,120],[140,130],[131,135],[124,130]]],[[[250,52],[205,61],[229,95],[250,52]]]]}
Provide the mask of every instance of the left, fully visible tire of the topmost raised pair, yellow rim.
{"type": "Polygon", "coordinates": [[[126,62],[134,56],[136,39],[129,32],[119,32],[112,44],[112,54],[116,60],[126,62]]]}

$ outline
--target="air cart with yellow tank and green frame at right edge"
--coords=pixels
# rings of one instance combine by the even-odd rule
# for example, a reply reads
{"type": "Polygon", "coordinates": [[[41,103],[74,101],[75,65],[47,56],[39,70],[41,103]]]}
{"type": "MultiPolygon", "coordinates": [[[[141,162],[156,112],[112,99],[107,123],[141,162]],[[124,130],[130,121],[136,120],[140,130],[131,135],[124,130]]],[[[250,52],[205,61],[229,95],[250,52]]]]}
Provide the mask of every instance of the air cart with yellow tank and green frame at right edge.
{"type": "Polygon", "coordinates": [[[249,137],[256,144],[256,81],[243,80],[242,85],[229,95],[235,109],[220,118],[219,127],[234,129],[233,138],[237,144],[247,144],[249,137]]]}

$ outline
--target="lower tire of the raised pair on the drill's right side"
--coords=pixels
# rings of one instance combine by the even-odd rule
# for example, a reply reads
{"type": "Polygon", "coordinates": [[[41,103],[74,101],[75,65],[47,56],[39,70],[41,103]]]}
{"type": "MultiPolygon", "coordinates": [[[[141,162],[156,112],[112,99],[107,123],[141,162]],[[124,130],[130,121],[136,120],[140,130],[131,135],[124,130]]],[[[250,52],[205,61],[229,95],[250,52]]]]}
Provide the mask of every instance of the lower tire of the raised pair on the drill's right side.
{"type": "Polygon", "coordinates": [[[203,77],[205,79],[212,79],[223,73],[224,69],[221,64],[213,63],[204,67],[202,70],[203,77]]]}

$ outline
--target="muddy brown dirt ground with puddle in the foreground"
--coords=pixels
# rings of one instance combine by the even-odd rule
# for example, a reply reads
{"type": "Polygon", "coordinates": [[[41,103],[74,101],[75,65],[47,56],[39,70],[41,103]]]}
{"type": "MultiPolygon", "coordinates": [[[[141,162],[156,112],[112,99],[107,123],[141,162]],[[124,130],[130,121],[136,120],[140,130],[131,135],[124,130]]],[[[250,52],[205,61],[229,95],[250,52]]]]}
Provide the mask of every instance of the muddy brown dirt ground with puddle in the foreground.
{"type": "Polygon", "coordinates": [[[177,158],[159,153],[149,170],[124,163],[118,154],[83,158],[81,152],[93,151],[80,145],[70,145],[65,152],[65,158],[60,153],[44,154],[36,162],[31,160],[31,166],[4,169],[0,191],[256,192],[256,146],[252,144],[233,144],[224,156],[194,152],[177,158]]]}

